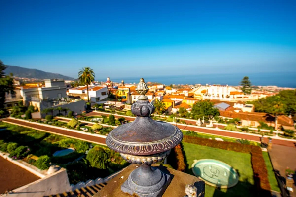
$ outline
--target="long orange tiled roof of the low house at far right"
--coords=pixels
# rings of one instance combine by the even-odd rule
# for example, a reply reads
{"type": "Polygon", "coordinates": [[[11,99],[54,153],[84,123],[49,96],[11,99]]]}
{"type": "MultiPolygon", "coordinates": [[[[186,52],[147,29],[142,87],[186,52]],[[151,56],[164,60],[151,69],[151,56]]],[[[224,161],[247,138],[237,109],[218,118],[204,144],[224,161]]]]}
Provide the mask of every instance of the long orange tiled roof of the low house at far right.
{"type": "MultiPolygon", "coordinates": [[[[274,123],[275,117],[267,113],[258,113],[258,112],[230,112],[230,111],[220,111],[220,116],[228,118],[239,118],[241,120],[249,121],[262,121],[267,123],[274,123]]],[[[287,116],[281,115],[278,116],[278,123],[285,126],[293,126],[293,120],[287,116]]]]}

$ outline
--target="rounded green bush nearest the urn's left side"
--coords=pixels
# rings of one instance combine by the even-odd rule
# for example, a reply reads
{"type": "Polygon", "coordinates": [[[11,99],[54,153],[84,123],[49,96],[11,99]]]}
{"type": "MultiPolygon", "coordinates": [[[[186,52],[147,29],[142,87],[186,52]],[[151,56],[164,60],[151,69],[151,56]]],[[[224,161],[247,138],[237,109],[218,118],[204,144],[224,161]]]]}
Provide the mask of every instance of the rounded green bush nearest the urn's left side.
{"type": "Polygon", "coordinates": [[[95,146],[88,152],[86,159],[92,167],[106,169],[109,162],[108,154],[99,146],[95,146]]]}

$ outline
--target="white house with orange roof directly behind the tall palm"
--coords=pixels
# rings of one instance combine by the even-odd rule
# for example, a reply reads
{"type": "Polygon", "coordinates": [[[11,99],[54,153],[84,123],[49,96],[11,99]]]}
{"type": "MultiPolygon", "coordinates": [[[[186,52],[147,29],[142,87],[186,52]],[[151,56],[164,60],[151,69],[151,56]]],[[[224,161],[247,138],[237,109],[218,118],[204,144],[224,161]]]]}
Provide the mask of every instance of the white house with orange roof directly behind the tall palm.
{"type": "MultiPolygon", "coordinates": [[[[68,95],[71,97],[79,96],[83,100],[87,99],[87,87],[79,86],[68,90],[68,95]]],[[[88,97],[92,103],[104,103],[108,99],[107,86],[89,86],[88,97]]]]}

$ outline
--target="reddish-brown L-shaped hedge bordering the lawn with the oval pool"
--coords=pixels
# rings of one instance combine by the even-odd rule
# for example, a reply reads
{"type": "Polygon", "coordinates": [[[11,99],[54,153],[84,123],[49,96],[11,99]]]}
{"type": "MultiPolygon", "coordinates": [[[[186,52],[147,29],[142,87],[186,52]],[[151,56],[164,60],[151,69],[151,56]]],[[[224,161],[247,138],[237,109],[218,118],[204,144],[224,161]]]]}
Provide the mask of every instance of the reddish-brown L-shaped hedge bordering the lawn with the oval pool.
{"type": "Polygon", "coordinates": [[[251,154],[251,164],[254,174],[255,187],[258,190],[259,196],[271,196],[270,183],[268,180],[268,171],[262,155],[262,150],[259,146],[248,144],[239,144],[234,142],[216,141],[194,136],[183,136],[183,142],[220,148],[223,150],[236,151],[241,153],[251,154]]]}

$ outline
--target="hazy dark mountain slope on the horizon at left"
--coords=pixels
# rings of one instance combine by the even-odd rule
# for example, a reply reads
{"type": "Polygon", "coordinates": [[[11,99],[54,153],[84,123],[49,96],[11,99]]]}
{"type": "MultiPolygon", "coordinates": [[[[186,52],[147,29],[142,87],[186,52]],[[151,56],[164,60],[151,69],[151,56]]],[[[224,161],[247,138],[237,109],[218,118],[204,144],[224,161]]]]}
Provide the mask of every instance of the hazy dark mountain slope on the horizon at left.
{"type": "Polygon", "coordinates": [[[26,77],[26,78],[35,78],[35,79],[65,79],[65,80],[74,80],[72,77],[64,76],[61,74],[44,72],[37,69],[29,69],[19,66],[7,66],[5,73],[13,73],[16,77],[26,77]]]}

